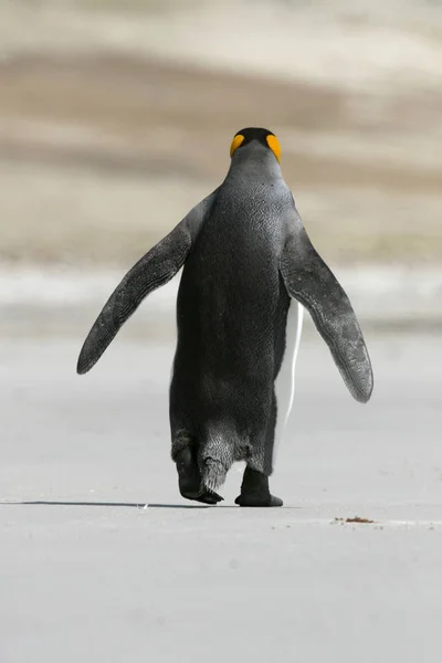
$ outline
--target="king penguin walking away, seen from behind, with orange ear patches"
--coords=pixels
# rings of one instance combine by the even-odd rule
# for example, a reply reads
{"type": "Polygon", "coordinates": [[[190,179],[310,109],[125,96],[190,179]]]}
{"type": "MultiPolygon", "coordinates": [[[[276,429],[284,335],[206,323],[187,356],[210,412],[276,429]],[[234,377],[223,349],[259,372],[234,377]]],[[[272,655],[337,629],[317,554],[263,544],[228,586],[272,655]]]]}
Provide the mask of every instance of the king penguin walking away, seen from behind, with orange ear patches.
{"type": "Polygon", "coordinates": [[[183,267],[169,390],[171,457],[181,495],[217,504],[236,461],[240,506],[281,506],[271,494],[291,411],[303,312],[328,345],[352,397],[373,377],[355,312],[311,243],[264,128],[232,140],[224,181],[124,276],[93,325],[77,372],[87,372],[152,291],[183,267]]]}

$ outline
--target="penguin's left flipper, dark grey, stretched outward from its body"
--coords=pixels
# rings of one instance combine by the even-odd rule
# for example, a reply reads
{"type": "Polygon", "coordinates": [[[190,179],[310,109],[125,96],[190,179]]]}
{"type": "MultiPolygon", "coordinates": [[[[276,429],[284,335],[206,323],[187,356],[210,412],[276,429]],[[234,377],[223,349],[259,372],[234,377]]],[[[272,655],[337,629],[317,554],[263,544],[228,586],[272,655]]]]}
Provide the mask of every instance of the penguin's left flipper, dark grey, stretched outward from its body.
{"type": "Polygon", "coordinates": [[[141,301],[168,283],[181,269],[204,219],[210,198],[196,206],[127,272],[104,305],[83,344],[76,367],[77,373],[83,375],[91,370],[141,301]]]}

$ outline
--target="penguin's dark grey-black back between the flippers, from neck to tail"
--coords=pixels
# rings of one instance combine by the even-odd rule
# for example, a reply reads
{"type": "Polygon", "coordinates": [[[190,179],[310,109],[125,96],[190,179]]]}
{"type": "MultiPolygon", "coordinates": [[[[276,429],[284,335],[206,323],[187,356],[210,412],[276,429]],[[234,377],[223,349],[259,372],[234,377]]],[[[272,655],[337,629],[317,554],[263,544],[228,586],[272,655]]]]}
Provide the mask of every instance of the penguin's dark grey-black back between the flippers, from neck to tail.
{"type": "Polygon", "coordinates": [[[281,209],[262,187],[224,183],[183,267],[170,412],[192,434],[228,418],[253,436],[274,417],[290,298],[281,209]]]}

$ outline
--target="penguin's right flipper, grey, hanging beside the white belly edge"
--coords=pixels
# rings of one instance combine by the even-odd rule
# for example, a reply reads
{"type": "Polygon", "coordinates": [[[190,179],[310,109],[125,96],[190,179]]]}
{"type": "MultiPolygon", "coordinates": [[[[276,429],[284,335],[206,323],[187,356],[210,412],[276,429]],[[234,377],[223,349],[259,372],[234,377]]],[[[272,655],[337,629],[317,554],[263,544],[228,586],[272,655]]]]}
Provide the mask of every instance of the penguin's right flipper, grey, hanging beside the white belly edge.
{"type": "Polygon", "coordinates": [[[288,294],[307,308],[327,343],[351,396],[366,403],[373,376],[362,332],[347,294],[312,245],[297,214],[290,223],[280,270],[288,294]]]}

